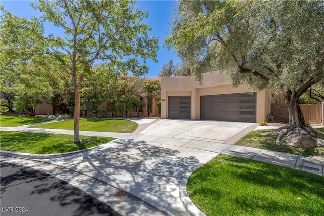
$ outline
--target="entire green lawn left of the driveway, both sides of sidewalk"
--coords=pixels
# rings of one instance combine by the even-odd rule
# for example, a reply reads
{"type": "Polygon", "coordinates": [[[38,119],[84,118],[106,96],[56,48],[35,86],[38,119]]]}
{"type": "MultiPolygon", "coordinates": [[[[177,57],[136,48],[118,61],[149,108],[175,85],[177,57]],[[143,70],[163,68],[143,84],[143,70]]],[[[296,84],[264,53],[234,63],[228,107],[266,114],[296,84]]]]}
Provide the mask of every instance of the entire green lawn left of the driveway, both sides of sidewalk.
{"type": "MultiPolygon", "coordinates": [[[[39,117],[0,115],[0,125],[6,127],[17,127],[46,121],[49,120],[39,117]]],[[[73,120],[66,120],[49,122],[32,127],[73,130],[73,124],[73,120]]],[[[80,129],[84,131],[132,133],[137,126],[138,124],[135,122],[120,119],[86,118],[80,120],[80,129]]],[[[112,137],[80,136],[80,143],[73,143],[73,135],[7,131],[0,131],[0,136],[0,150],[32,154],[77,151],[98,146],[115,139],[112,137]]]]}

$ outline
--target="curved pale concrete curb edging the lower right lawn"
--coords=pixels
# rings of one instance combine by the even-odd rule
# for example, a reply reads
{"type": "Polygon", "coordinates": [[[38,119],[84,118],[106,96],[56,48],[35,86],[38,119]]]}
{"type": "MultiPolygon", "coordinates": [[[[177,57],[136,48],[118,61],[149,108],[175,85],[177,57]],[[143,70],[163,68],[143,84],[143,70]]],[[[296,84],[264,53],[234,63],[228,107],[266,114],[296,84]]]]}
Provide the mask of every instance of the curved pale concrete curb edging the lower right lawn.
{"type": "Polygon", "coordinates": [[[180,200],[185,207],[187,213],[191,216],[205,216],[191,201],[187,193],[187,182],[189,179],[190,173],[187,172],[180,180],[179,183],[179,195],[180,200]]]}

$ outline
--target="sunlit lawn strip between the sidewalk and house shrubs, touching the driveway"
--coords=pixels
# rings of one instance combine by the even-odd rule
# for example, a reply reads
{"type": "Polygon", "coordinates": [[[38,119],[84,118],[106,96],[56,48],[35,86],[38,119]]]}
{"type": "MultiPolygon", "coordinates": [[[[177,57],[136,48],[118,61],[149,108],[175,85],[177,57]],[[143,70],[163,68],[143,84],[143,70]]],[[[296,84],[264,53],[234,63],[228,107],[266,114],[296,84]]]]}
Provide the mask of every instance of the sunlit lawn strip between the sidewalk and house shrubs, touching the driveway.
{"type": "MultiPolygon", "coordinates": [[[[80,119],[80,130],[99,132],[133,133],[138,124],[133,121],[120,119],[85,118],[80,119]]],[[[31,128],[68,129],[73,130],[74,121],[59,121],[50,124],[31,126],[31,128]]]]}

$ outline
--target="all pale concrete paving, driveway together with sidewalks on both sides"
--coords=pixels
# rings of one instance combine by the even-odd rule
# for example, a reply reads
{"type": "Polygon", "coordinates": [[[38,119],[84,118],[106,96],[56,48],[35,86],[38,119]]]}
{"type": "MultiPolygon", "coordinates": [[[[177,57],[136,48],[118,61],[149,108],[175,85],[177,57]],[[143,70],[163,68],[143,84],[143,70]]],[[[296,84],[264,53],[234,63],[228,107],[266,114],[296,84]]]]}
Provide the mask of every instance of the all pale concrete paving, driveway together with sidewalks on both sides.
{"type": "MultiPolygon", "coordinates": [[[[124,215],[188,215],[194,207],[184,191],[187,177],[221,153],[324,175],[323,157],[304,157],[231,144],[255,129],[257,124],[227,123],[228,131],[223,127],[223,133],[210,135],[211,127],[220,131],[218,122],[165,119],[154,122],[149,122],[146,128],[143,126],[142,131],[137,131],[138,134],[81,131],[80,135],[119,139],[70,156],[63,154],[58,158],[39,159],[39,155],[29,155],[35,161],[26,161],[10,158],[22,155],[2,152],[3,156],[9,157],[2,157],[1,160],[31,163],[33,168],[46,171],[93,194],[124,215]],[[154,130],[163,131],[162,136],[156,135],[154,130]],[[101,185],[96,185],[96,181],[101,185]],[[114,200],[112,192],[105,194],[105,191],[109,191],[106,189],[108,186],[124,191],[125,200],[129,195],[143,202],[138,204],[137,199],[132,199],[137,201],[131,202],[129,209],[125,203],[114,200]],[[107,200],[109,196],[112,200],[107,200]],[[159,210],[154,210],[153,206],[159,210]]],[[[224,123],[220,122],[219,125],[224,123]]],[[[26,127],[0,127],[0,130],[73,134],[73,131],[26,127]]],[[[194,211],[199,214],[196,209],[194,211]]]]}

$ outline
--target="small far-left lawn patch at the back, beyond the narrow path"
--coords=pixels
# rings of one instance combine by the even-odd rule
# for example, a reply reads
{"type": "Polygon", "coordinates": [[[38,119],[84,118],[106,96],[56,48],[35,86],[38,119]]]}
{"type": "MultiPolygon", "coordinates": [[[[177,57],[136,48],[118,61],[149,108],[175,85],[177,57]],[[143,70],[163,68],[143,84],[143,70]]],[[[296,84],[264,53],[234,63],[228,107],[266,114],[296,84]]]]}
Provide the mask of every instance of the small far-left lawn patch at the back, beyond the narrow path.
{"type": "Polygon", "coordinates": [[[2,127],[18,127],[22,125],[34,124],[45,121],[50,120],[38,117],[18,117],[11,115],[0,115],[0,126],[2,127]]]}

